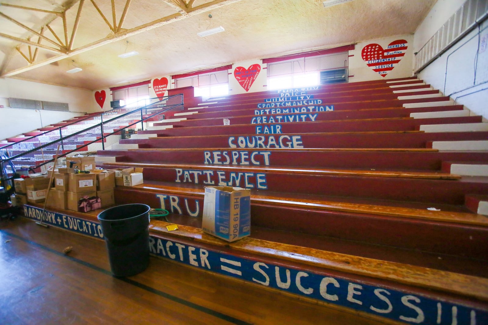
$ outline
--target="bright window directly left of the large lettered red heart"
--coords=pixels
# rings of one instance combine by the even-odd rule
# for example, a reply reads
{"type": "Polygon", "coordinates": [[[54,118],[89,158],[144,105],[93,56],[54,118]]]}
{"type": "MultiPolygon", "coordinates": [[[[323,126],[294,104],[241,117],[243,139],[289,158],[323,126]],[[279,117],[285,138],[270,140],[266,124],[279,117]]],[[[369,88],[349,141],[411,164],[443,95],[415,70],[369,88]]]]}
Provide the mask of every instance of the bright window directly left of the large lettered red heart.
{"type": "Polygon", "coordinates": [[[215,97],[229,93],[227,70],[175,79],[176,88],[193,86],[195,96],[215,97]]]}

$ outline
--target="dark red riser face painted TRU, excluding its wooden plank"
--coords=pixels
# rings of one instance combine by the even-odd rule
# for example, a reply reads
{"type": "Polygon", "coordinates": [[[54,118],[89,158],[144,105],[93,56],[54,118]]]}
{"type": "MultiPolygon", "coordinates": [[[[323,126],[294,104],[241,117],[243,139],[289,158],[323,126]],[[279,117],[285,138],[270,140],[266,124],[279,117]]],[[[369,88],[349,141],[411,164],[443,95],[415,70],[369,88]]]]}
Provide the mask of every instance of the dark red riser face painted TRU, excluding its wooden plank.
{"type": "MultiPolygon", "coordinates": [[[[142,198],[150,206],[161,204],[160,198],[155,193],[142,192],[136,188],[122,189],[117,187],[115,194],[117,202],[120,204],[140,203],[142,198]]],[[[173,210],[170,207],[170,195],[167,194],[164,198],[166,208],[169,211],[178,213],[176,209],[173,210]]],[[[201,217],[203,196],[185,196],[184,198],[189,201],[188,208],[191,211],[197,211],[198,209],[201,217]],[[199,205],[198,208],[196,204],[199,205]]],[[[181,204],[178,204],[178,208],[185,209],[182,197],[179,197],[178,202],[181,202],[181,204]]],[[[488,239],[488,231],[486,227],[481,226],[432,223],[388,216],[371,217],[365,214],[338,211],[303,210],[259,203],[252,204],[251,214],[253,216],[253,225],[283,231],[302,232],[309,235],[330,236],[381,245],[401,245],[411,249],[440,254],[459,254],[472,258],[486,256],[488,253],[488,248],[485,244],[488,239]],[[381,236],[378,234],[381,234],[381,236]],[[416,236],[411,236],[412,234],[416,236]],[[469,239],[469,236],[472,239],[469,239]],[[419,241],[418,238],[429,238],[429,240],[419,241]],[[456,238],[456,245],[446,245],[445,243],[452,240],[452,238],[456,238]]]]}

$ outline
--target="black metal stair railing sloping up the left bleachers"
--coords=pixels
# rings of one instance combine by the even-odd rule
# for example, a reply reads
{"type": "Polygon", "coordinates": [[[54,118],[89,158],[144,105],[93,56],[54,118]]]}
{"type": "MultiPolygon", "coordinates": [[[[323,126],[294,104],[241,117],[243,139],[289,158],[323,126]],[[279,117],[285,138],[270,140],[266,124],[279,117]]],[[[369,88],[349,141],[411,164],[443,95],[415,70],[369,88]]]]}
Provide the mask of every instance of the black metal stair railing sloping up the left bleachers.
{"type": "MultiPolygon", "coordinates": [[[[88,119],[97,119],[100,117],[100,122],[91,125],[89,127],[83,128],[79,131],[74,131],[70,132],[69,134],[62,134],[61,128],[64,128],[68,125],[73,126],[74,124],[81,124],[79,122],[81,121],[76,121],[73,123],[69,123],[63,126],[60,126],[56,129],[50,130],[43,132],[37,136],[33,136],[30,138],[26,138],[24,140],[21,140],[16,143],[11,143],[9,145],[5,145],[0,147],[0,152],[2,155],[0,156],[0,186],[4,187],[6,189],[7,185],[10,185],[13,187],[13,182],[12,180],[15,177],[15,170],[11,170],[11,172],[8,172],[4,167],[9,167],[10,169],[13,168],[14,164],[13,161],[19,160],[33,152],[39,152],[41,151],[42,156],[44,156],[44,150],[52,152],[53,150],[55,151],[57,146],[60,145],[61,151],[60,154],[58,155],[58,158],[62,157],[67,157],[70,154],[76,153],[81,151],[80,149],[87,148],[89,145],[93,143],[101,143],[101,148],[102,150],[105,150],[105,143],[107,139],[109,139],[110,136],[116,135],[116,134],[121,134],[121,132],[125,132],[126,129],[131,128],[135,125],[138,126],[140,124],[141,129],[143,130],[143,125],[145,121],[148,121],[150,119],[154,119],[164,112],[167,112],[169,110],[172,110],[174,108],[181,108],[183,110],[184,108],[184,103],[183,103],[183,94],[177,94],[173,96],[165,96],[161,98],[151,98],[149,99],[150,101],[156,100],[156,102],[152,102],[146,106],[142,106],[139,108],[136,108],[134,110],[131,110],[129,112],[126,112],[122,115],[117,115],[114,118],[108,119],[108,120],[103,120],[103,115],[105,116],[110,116],[113,114],[106,114],[107,112],[103,112],[101,114],[97,115],[92,115],[90,117],[84,118],[81,121],[86,121],[88,119]],[[151,111],[156,111],[155,113],[150,114],[151,111]],[[149,115],[148,115],[149,114],[149,115]],[[145,115],[145,117],[144,117],[145,115]],[[107,130],[112,130],[108,131],[107,130]],[[53,132],[54,131],[54,132],[53,132]],[[56,135],[54,135],[56,133],[56,135]],[[82,145],[76,144],[75,148],[72,148],[72,145],[70,144],[71,142],[79,142],[79,136],[80,135],[89,135],[90,138],[95,138],[91,139],[88,141],[83,141],[82,145]],[[39,146],[36,146],[34,148],[31,148],[27,151],[24,151],[20,154],[17,155],[10,155],[8,153],[8,148],[11,150],[15,148],[15,145],[19,143],[32,143],[32,140],[35,139],[36,137],[41,137],[41,136],[55,136],[57,137],[57,140],[47,142],[44,144],[41,144],[41,140],[39,140],[39,146]],[[31,140],[31,141],[28,141],[31,140]],[[69,148],[69,149],[68,149],[69,148]]],[[[110,112],[110,111],[109,111],[110,112]]],[[[70,130],[73,131],[73,130],[70,130]]],[[[29,169],[33,171],[40,171],[41,167],[54,163],[54,158],[45,160],[42,159],[43,163],[31,166],[29,169]]]]}

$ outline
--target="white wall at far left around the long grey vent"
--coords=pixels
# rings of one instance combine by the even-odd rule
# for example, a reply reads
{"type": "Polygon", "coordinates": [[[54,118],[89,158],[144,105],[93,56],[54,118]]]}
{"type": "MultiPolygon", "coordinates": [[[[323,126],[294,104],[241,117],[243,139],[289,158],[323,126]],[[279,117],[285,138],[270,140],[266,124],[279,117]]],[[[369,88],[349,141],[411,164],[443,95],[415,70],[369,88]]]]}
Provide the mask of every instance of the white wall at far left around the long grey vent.
{"type": "Polygon", "coordinates": [[[36,130],[52,123],[71,119],[84,112],[94,112],[92,92],[85,89],[61,87],[45,83],[0,78],[0,140],[36,130]],[[29,110],[9,107],[8,98],[22,98],[49,102],[67,102],[69,112],[29,110]]]}

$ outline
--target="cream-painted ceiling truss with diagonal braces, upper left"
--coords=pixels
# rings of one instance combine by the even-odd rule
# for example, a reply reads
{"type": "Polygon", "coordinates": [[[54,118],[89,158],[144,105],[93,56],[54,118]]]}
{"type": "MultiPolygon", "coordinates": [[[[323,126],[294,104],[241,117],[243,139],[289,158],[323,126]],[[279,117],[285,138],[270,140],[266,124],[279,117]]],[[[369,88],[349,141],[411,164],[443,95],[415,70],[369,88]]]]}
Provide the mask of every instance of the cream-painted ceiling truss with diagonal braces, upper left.
{"type": "MultiPolygon", "coordinates": [[[[136,35],[160,26],[163,26],[165,24],[171,23],[173,21],[189,18],[198,14],[201,14],[203,12],[213,10],[222,6],[225,6],[230,3],[238,2],[240,0],[213,0],[207,3],[204,3],[202,5],[193,7],[193,3],[195,0],[189,0],[188,2],[185,2],[184,0],[161,0],[165,4],[169,5],[171,8],[176,10],[178,13],[160,18],[158,20],[153,20],[151,22],[148,22],[146,24],[142,24],[140,26],[131,28],[131,29],[124,29],[123,28],[123,23],[127,17],[127,15],[130,13],[129,6],[131,4],[132,0],[125,0],[125,5],[123,8],[123,12],[119,20],[117,20],[117,15],[116,15],[116,7],[115,7],[115,0],[111,0],[111,18],[112,22],[110,22],[107,19],[107,16],[105,16],[100,9],[100,7],[97,5],[96,0],[90,0],[91,4],[94,6],[96,9],[98,15],[105,21],[107,24],[108,28],[110,29],[110,33],[107,37],[103,39],[99,39],[97,41],[94,41],[89,44],[81,45],[80,47],[73,48],[74,42],[76,40],[76,34],[78,32],[79,26],[80,26],[80,18],[82,14],[82,9],[84,3],[88,2],[87,0],[78,0],[78,10],[76,14],[75,21],[73,23],[73,27],[69,29],[68,31],[68,22],[66,19],[66,11],[70,9],[71,7],[64,8],[61,12],[59,11],[51,11],[51,10],[44,10],[44,9],[39,9],[39,8],[30,8],[30,7],[24,7],[24,6],[18,6],[18,5],[13,5],[13,4],[8,4],[8,3],[0,3],[0,8],[1,7],[12,7],[16,8],[19,10],[23,11],[37,11],[37,12],[42,12],[46,14],[51,14],[54,15],[53,19],[49,22],[43,25],[40,29],[40,31],[35,31],[28,26],[24,25],[18,20],[13,19],[10,16],[7,16],[0,12],[0,19],[6,19],[9,20],[16,25],[20,26],[21,28],[25,29],[32,35],[28,39],[20,39],[18,37],[14,37],[12,35],[8,35],[5,33],[0,33],[0,37],[6,38],[12,41],[17,41],[19,44],[15,47],[15,50],[20,53],[20,55],[27,61],[28,65],[19,69],[15,69],[12,71],[2,71],[1,72],[1,77],[11,77],[15,76],[17,74],[20,74],[25,71],[29,71],[41,66],[44,66],[46,64],[50,64],[56,61],[60,61],[62,59],[92,50],[94,48],[97,48],[99,46],[109,44],[115,41],[120,41],[123,40],[129,36],[136,35]],[[61,18],[62,24],[63,24],[63,34],[62,36],[57,35],[53,28],[50,26],[50,24],[54,21],[61,18]],[[50,35],[45,35],[46,29],[49,30],[50,35]],[[37,40],[35,39],[37,37],[37,40]],[[32,41],[31,39],[34,38],[36,41],[32,41]],[[62,41],[61,39],[64,39],[62,41]],[[41,42],[49,42],[50,46],[41,44],[41,42]],[[27,49],[22,50],[22,45],[27,45],[27,49]],[[38,53],[39,50],[44,50],[44,51],[49,51],[52,53],[55,53],[56,56],[38,61],[38,53]],[[25,52],[27,51],[27,53],[25,52]]],[[[101,0],[97,0],[101,1],[101,0]]],[[[102,1],[108,1],[108,0],[102,0],[102,1]]],[[[76,2],[73,4],[76,5],[76,2]]],[[[110,17],[110,16],[108,16],[110,17]]],[[[25,47],[25,46],[23,46],[25,47]]]]}

